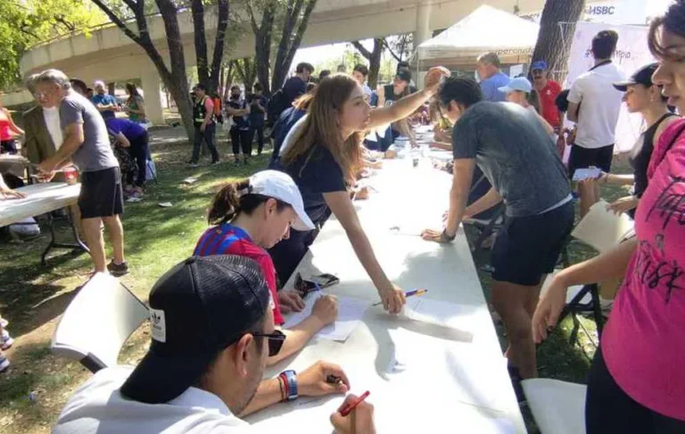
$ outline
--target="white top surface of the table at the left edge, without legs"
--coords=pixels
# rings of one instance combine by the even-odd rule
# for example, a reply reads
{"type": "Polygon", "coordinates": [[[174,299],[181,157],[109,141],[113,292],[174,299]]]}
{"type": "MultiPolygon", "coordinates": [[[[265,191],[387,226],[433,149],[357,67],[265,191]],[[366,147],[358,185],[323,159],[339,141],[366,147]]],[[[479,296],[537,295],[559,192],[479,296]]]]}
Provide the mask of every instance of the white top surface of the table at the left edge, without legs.
{"type": "Polygon", "coordinates": [[[0,200],[0,227],[76,204],[81,185],[48,182],[17,188],[17,191],[21,191],[26,197],[0,200]]]}

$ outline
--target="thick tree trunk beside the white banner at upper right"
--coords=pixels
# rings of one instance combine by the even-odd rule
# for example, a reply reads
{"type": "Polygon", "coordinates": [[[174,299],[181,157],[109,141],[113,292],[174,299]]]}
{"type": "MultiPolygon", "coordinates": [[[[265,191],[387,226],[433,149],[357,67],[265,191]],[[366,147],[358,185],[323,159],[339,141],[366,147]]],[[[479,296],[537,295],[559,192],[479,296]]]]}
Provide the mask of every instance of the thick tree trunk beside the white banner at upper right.
{"type": "Polygon", "coordinates": [[[584,7],[585,0],[547,0],[542,10],[540,33],[532,52],[532,62],[547,62],[550,78],[558,82],[563,82],[566,77],[575,23],[580,19],[584,7]],[[562,23],[561,26],[559,23],[562,23]]]}

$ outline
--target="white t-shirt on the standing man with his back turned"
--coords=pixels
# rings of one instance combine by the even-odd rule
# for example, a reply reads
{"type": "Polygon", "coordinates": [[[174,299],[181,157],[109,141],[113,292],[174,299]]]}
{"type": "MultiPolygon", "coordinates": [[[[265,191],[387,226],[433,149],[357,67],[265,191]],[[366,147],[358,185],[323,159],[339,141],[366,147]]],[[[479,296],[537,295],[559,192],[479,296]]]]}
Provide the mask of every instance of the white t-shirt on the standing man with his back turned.
{"type": "Polygon", "coordinates": [[[581,104],[575,145],[589,149],[615,143],[616,123],[623,93],[613,83],[624,81],[625,74],[614,63],[607,63],[575,80],[568,101],[581,104]]]}

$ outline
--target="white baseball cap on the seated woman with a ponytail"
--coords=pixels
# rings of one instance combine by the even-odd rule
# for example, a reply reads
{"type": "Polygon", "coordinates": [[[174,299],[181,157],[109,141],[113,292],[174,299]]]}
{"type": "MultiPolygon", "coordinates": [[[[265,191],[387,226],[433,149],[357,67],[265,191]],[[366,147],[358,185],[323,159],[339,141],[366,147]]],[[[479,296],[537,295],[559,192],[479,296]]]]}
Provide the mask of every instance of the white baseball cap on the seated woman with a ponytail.
{"type": "Polygon", "coordinates": [[[300,188],[295,181],[282,171],[258,171],[250,177],[250,193],[273,197],[293,207],[297,220],[293,223],[294,230],[315,230],[317,227],[304,211],[300,188]]]}

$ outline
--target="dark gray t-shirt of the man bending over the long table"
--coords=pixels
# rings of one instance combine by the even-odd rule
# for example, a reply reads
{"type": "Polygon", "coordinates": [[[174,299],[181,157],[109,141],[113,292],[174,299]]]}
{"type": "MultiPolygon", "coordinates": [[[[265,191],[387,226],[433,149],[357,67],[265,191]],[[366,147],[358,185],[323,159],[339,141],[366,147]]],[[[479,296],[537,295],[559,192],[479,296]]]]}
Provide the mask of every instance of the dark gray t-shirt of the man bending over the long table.
{"type": "Polygon", "coordinates": [[[507,204],[507,215],[536,215],[571,193],[557,149],[533,113],[512,103],[466,110],[452,135],[454,158],[476,163],[507,204]]]}

